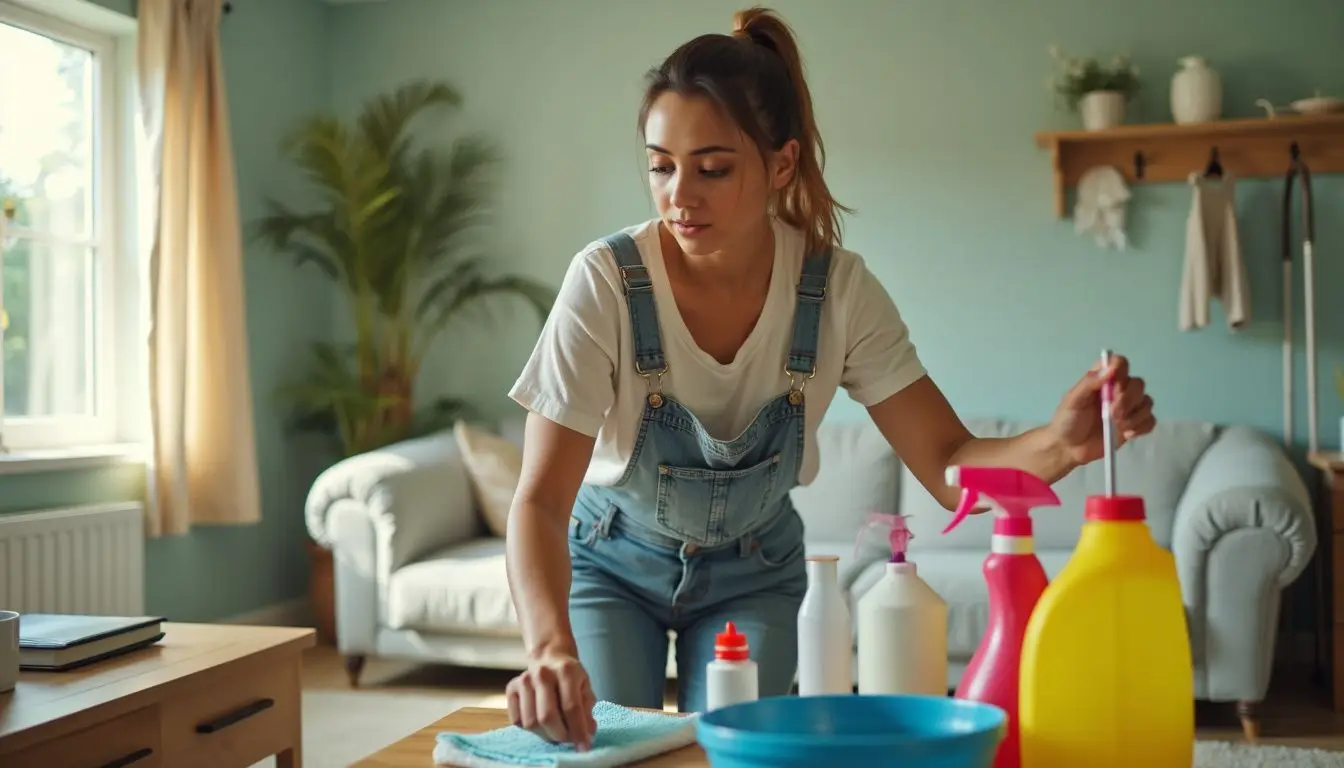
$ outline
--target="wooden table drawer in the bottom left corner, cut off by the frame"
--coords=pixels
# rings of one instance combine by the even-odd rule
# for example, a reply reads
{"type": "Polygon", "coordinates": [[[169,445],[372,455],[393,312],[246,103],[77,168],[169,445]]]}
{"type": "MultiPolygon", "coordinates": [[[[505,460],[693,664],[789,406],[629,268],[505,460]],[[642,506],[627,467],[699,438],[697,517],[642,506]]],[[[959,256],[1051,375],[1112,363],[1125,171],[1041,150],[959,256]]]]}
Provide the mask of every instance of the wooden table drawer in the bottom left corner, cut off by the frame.
{"type": "Polygon", "coordinates": [[[0,756],[4,768],[164,768],[159,707],[146,706],[83,730],[0,756]]]}

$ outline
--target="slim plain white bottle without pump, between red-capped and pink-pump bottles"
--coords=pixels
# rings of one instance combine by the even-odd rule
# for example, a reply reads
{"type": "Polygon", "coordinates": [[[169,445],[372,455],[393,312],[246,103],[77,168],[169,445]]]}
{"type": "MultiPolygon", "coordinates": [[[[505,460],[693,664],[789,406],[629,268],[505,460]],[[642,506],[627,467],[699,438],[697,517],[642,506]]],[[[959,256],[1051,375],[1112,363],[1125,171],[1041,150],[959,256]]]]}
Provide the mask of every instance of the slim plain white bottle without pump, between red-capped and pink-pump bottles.
{"type": "Polygon", "coordinates": [[[798,695],[853,693],[853,627],[833,554],[812,555],[798,609],[798,695]]]}

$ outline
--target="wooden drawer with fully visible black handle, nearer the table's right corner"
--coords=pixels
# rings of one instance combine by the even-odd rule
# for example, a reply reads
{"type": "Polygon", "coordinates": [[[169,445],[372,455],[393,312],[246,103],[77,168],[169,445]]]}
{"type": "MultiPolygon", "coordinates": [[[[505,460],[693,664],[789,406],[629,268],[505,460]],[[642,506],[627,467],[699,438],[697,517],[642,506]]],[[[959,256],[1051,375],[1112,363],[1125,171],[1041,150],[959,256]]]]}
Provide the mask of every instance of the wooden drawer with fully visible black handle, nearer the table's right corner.
{"type": "Polygon", "coordinates": [[[164,764],[238,768],[298,746],[300,682],[296,662],[211,675],[164,701],[164,764]]]}

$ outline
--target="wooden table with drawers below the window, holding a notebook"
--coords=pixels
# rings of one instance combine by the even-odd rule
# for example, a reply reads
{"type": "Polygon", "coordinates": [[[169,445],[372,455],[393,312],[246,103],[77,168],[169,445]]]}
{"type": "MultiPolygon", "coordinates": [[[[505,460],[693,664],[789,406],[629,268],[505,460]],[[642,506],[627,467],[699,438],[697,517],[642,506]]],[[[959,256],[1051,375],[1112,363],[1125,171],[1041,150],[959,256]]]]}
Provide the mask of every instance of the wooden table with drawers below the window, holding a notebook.
{"type": "Polygon", "coordinates": [[[0,694],[4,768],[302,765],[302,627],[164,624],[156,646],[0,694]]]}

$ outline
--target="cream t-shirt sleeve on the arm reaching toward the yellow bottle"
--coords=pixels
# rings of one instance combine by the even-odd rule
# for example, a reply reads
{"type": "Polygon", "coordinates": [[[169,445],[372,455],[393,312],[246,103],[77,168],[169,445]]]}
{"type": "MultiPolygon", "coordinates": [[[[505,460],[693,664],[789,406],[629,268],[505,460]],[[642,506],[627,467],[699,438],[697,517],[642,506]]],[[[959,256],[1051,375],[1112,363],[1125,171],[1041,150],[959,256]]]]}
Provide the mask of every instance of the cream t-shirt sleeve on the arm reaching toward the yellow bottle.
{"type": "Polygon", "coordinates": [[[851,276],[844,323],[840,385],[856,402],[876,405],[925,377],[900,311],[862,260],[851,276]]]}

